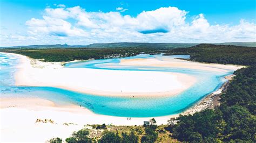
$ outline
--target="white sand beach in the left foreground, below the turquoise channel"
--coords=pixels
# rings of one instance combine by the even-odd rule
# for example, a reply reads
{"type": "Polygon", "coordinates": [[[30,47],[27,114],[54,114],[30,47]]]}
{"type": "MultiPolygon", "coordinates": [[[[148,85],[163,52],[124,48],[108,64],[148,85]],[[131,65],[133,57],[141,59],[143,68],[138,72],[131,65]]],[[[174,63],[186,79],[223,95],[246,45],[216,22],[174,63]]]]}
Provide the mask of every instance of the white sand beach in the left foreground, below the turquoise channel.
{"type": "MultiPolygon", "coordinates": [[[[44,142],[53,137],[66,139],[86,124],[143,125],[150,118],[113,117],[97,115],[80,106],[56,106],[39,98],[0,98],[0,142],[44,142]],[[51,119],[57,124],[35,123],[37,119],[51,119]],[[73,123],[75,125],[63,125],[73,123]]],[[[158,124],[166,124],[174,116],[157,117],[158,124]]]]}

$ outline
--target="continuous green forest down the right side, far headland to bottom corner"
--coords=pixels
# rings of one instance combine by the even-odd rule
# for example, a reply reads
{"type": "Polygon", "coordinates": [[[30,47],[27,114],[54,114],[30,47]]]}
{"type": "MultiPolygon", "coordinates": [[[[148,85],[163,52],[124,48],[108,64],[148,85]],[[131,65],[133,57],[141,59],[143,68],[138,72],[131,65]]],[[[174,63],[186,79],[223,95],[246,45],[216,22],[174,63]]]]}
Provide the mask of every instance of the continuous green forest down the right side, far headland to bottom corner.
{"type": "Polygon", "coordinates": [[[191,142],[255,142],[256,133],[256,48],[201,44],[173,49],[169,54],[190,54],[192,61],[246,65],[221,95],[220,106],[187,116],[170,124],[172,137],[191,142]]]}

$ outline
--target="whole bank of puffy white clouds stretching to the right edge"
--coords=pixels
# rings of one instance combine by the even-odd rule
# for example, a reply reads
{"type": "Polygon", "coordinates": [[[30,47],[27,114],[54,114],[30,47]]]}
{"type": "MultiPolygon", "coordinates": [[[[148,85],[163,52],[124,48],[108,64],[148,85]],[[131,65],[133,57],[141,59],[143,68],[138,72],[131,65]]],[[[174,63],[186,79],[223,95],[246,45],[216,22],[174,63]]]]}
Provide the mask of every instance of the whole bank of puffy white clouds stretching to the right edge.
{"type": "Polygon", "coordinates": [[[187,11],[176,7],[143,11],[136,17],[117,11],[90,12],[75,6],[46,8],[42,18],[26,21],[28,34],[36,39],[69,44],[92,42],[228,42],[255,41],[256,24],[241,20],[237,25],[211,25],[203,13],[186,22],[187,11]],[[52,40],[55,39],[55,40],[52,40]]]}

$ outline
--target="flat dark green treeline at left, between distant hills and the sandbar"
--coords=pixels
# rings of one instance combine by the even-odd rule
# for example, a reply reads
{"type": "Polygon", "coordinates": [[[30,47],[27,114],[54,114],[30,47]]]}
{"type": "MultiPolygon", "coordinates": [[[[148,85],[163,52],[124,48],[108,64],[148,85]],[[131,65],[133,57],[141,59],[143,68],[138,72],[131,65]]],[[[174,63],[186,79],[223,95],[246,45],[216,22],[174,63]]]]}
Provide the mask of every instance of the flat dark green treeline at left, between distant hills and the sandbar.
{"type": "Polygon", "coordinates": [[[88,60],[88,59],[109,59],[134,56],[140,53],[158,54],[171,48],[5,48],[0,52],[17,53],[29,56],[33,59],[44,59],[49,62],[88,60]]]}

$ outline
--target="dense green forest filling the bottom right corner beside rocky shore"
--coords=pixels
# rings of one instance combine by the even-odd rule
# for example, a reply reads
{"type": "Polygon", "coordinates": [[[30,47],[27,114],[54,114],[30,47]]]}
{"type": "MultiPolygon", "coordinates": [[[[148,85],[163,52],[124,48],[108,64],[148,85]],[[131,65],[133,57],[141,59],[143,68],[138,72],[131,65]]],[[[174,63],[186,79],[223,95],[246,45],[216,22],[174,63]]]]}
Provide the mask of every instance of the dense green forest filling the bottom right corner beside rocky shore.
{"type": "Polygon", "coordinates": [[[221,105],[193,116],[179,116],[170,125],[173,136],[181,141],[251,141],[255,142],[256,68],[240,69],[221,95],[221,105]]]}

